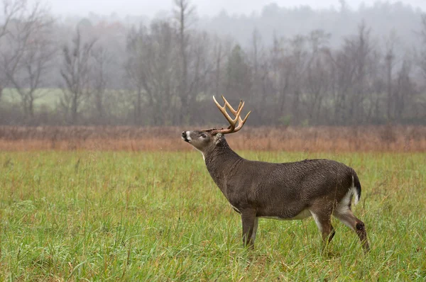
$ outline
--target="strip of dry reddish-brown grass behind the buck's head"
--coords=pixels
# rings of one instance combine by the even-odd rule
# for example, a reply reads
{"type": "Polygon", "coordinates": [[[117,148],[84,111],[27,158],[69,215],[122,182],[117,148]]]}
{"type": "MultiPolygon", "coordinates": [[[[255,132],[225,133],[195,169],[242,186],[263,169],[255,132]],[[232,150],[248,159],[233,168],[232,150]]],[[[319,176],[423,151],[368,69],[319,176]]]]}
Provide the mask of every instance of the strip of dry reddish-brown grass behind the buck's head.
{"type": "MultiPolygon", "coordinates": [[[[190,127],[192,128],[192,127],[190,127]]],[[[0,127],[0,150],[181,151],[186,127],[0,127]]],[[[250,128],[227,137],[234,150],[426,152],[425,126],[250,128]]]]}

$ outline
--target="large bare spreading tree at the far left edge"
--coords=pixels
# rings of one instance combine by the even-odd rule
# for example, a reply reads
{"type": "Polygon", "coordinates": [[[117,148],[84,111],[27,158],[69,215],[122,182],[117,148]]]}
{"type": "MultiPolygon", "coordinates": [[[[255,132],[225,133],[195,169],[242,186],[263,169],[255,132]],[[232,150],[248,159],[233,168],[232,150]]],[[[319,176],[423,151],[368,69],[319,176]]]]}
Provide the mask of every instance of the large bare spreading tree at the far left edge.
{"type": "Polygon", "coordinates": [[[7,47],[2,54],[6,79],[21,98],[26,123],[35,122],[34,102],[41,96],[44,79],[55,56],[55,43],[51,39],[53,19],[40,4],[24,7],[9,33],[5,35],[7,47]]]}

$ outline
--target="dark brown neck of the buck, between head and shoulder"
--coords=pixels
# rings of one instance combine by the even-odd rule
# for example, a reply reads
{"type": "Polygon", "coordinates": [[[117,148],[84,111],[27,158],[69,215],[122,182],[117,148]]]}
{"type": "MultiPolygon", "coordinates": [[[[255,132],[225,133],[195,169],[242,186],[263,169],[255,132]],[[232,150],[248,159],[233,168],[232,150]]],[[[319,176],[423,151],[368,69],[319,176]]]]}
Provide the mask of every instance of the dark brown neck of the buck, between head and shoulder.
{"type": "Polygon", "coordinates": [[[226,181],[238,171],[239,165],[243,160],[229,147],[224,139],[212,151],[204,153],[204,162],[207,170],[225,196],[226,181]]]}

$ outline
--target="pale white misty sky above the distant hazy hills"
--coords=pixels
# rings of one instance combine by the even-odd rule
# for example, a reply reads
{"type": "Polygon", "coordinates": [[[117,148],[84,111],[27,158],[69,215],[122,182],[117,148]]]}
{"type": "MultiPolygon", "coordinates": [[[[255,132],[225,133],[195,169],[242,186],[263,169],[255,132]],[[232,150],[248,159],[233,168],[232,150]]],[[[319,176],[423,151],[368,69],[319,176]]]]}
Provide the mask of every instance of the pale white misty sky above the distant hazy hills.
{"type": "MultiPolygon", "coordinates": [[[[33,0],[35,1],[35,0],[33,0]]],[[[352,9],[356,9],[361,3],[371,5],[376,0],[346,0],[346,3],[352,9]]],[[[397,0],[390,0],[396,2],[397,0]]],[[[55,14],[62,16],[87,15],[90,11],[102,15],[109,15],[113,12],[120,16],[155,16],[158,11],[170,11],[173,6],[173,0],[46,0],[55,14]]],[[[194,0],[192,4],[197,7],[199,16],[214,16],[222,9],[228,13],[246,13],[252,11],[261,11],[266,4],[275,2],[279,6],[300,6],[309,5],[314,8],[328,8],[330,6],[339,6],[339,0],[194,0]]],[[[411,4],[420,7],[426,11],[426,0],[402,0],[405,4],[411,4]]]]}

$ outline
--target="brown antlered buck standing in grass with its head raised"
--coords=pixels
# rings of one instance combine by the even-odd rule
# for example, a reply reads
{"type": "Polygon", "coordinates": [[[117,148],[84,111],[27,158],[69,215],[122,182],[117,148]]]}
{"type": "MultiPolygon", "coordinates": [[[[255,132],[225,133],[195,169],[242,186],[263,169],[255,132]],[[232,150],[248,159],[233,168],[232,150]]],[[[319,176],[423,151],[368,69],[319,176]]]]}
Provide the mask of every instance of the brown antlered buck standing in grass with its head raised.
{"type": "Polygon", "coordinates": [[[242,119],[244,102],[240,101],[235,110],[222,98],[224,106],[213,97],[229,127],[184,131],[182,139],[202,152],[213,181],[241,214],[244,246],[254,246],[259,218],[302,220],[311,215],[325,246],[334,237],[334,215],[356,232],[368,252],[364,222],[351,210],[352,198],[355,204],[361,198],[361,184],[354,169],[329,159],[270,163],[240,157],[231,150],[224,135],[241,130],[250,112],[242,119]],[[226,112],[226,107],[235,118],[226,112]]]}

